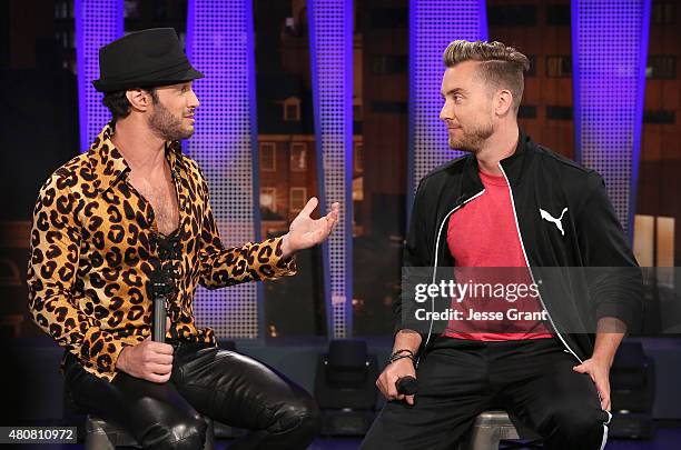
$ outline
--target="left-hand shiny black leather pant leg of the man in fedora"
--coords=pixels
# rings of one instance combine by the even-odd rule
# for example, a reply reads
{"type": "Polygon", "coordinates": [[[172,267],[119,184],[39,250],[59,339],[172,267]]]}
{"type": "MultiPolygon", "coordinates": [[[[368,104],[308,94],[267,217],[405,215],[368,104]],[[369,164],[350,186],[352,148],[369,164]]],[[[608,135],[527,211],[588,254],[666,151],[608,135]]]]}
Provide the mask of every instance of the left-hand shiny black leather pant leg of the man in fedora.
{"type": "Polygon", "coordinates": [[[204,448],[206,421],[172,382],[158,384],[122,372],[108,382],[83,370],[70,354],[65,374],[67,388],[79,408],[122,427],[142,448],[204,448]]]}

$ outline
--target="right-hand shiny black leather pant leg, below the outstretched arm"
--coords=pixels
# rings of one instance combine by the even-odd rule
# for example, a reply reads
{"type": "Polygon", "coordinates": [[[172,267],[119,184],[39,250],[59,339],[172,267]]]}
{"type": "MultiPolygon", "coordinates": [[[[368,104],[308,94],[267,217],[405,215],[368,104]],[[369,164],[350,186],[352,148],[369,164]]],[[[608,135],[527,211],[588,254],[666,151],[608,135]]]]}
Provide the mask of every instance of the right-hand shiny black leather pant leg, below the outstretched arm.
{"type": "Polygon", "coordinates": [[[209,344],[180,344],[172,381],[201,413],[254,430],[230,449],[305,449],[322,428],[314,399],[266,364],[209,344]]]}

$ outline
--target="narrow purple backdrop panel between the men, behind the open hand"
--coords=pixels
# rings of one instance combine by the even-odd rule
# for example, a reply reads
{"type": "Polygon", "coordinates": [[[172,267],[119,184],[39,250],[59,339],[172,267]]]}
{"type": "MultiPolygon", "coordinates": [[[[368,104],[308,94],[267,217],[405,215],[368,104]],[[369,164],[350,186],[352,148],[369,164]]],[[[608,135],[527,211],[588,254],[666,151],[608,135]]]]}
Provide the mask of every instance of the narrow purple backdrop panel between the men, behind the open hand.
{"type": "Polygon", "coordinates": [[[352,333],[353,294],[353,1],[308,0],[320,211],[340,202],[335,232],[323,246],[329,338],[352,333]]]}

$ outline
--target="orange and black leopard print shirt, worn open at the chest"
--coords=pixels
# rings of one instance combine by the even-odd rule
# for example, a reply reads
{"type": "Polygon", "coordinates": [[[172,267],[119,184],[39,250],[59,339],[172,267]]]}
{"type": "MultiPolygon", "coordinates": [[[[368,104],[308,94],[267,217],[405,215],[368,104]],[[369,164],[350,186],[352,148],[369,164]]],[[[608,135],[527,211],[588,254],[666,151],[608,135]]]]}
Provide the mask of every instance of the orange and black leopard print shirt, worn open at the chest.
{"type": "Polygon", "coordinates": [[[42,186],[27,280],[33,321],[88,372],[108,381],[124,347],[151,333],[158,273],[171,274],[167,338],[214,342],[213,330],[195,324],[198,284],[216,289],[296,272],[295,261],[282,256],[282,238],[224,248],[206,181],[179,142],[166,144],[166,158],[180,223],[161,236],[150,203],[127,182],[130,169],[111,143],[112,132],[111,124],[105,127],[88,152],[42,186]]]}

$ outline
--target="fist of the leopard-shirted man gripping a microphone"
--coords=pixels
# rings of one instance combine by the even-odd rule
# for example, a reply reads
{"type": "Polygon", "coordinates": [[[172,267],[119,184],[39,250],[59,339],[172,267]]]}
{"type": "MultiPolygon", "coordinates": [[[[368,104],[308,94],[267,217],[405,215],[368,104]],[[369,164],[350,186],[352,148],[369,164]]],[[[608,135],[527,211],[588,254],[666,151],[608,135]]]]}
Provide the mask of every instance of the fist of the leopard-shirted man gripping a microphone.
{"type": "MultiPolygon", "coordinates": [[[[169,319],[166,320],[166,332],[168,329],[169,319]]],[[[137,346],[124,348],[116,361],[116,369],[135,378],[165,383],[172,372],[172,346],[154,342],[149,336],[137,346]]]]}

